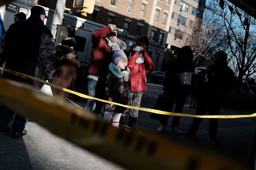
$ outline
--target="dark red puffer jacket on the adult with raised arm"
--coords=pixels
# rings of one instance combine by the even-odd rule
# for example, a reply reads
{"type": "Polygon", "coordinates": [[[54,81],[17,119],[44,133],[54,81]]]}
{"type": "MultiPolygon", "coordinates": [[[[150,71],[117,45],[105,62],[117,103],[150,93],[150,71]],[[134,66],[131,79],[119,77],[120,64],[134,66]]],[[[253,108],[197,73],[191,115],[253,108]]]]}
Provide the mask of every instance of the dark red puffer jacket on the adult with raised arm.
{"type": "Polygon", "coordinates": [[[92,34],[93,59],[89,65],[88,74],[105,77],[112,55],[107,42],[103,39],[112,32],[110,26],[105,26],[92,34]]]}

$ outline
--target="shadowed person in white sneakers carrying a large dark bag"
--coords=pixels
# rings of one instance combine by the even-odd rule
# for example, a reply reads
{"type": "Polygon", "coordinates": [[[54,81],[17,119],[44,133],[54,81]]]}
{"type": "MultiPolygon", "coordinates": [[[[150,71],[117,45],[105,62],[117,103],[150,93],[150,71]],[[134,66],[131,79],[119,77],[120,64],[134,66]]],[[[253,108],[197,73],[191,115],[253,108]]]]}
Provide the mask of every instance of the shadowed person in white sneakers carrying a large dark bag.
{"type": "MultiPolygon", "coordinates": [[[[164,78],[164,93],[170,98],[169,112],[175,105],[175,113],[182,113],[183,106],[186,102],[189,91],[191,90],[191,79],[195,71],[195,66],[192,64],[193,51],[189,46],[184,46],[180,49],[177,59],[171,61],[169,67],[166,70],[164,78]]],[[[168,107],[168,106],[167,106],[168,107]]],[[[164,132],[169,115],[159,115],[158,120],[160,127],[158,132],[164,132]]],[[[180,116],[174,116],[172,120],[172,132],[182,135],[182,131],[179,129],[180,116]]]]}

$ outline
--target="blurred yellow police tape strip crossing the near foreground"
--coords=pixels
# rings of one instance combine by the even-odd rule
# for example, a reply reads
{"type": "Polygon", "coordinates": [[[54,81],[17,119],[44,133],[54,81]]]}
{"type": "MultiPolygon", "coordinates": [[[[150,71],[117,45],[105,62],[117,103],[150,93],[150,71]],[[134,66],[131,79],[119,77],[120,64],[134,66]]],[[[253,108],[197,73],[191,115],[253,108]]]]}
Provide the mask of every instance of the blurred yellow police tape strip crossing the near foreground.
{"type": "MultiPolygon", "coordinates": [[[[13,80],[0,78],[0,102],[55,135],[127,169],[248,169],[222,156],[191,149],[161,136],[145,136],[138,131],[113,127],[93,113],[13,80]]],[[[28,135],[31,135],[29,131],[28,135]]]]}

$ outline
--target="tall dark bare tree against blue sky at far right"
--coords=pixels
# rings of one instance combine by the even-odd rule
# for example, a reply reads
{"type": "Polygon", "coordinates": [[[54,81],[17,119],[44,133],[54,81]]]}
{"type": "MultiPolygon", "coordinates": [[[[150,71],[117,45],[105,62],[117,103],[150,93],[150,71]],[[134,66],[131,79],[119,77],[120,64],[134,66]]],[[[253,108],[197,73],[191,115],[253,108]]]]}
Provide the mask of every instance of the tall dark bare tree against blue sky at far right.
{"type": "MultiPolygon", "coordinates": [[[[223,9],[219,5],[219,1],[209,1],[206,5],[208,9],[215,16],[215,23],[225,30],[223,37],[227,39],[230,56],[234,57],[235,65],[238,67],[238,82],[241,82],[242,77],[256,72],[255,58],[256,58],[256,33],[255,19],[235,7],[230,2],[225,2],[223,9]],[[247,23],[241,25],[243,20],[247,23]],[[239,53],[241,51],[241,55],[239,53]]],[[[239,93],[239,83],[236,88],[235,101],[239,93]]]]}

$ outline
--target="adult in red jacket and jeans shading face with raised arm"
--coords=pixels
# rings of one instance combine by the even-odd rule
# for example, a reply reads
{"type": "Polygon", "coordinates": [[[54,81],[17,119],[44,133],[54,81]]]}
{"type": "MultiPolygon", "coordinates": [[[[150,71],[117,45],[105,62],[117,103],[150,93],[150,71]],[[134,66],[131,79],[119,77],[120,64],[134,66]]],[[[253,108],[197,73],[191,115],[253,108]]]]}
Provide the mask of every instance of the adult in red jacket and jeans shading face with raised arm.
{"type": "MultiPolygon", "coordinates": [[[[123,32],[112,23],[92,34],[93,59],[90,61],[87,75],[87,94],[91,97],[102,99],[104,97],[105,76],[108,65],[113,61],[112,55],[115,49],[119,49],[116,40],[116,31],[123,32]]],[[[87,99],[85,111],[100,113],[103,103],[87,99]]]]}

